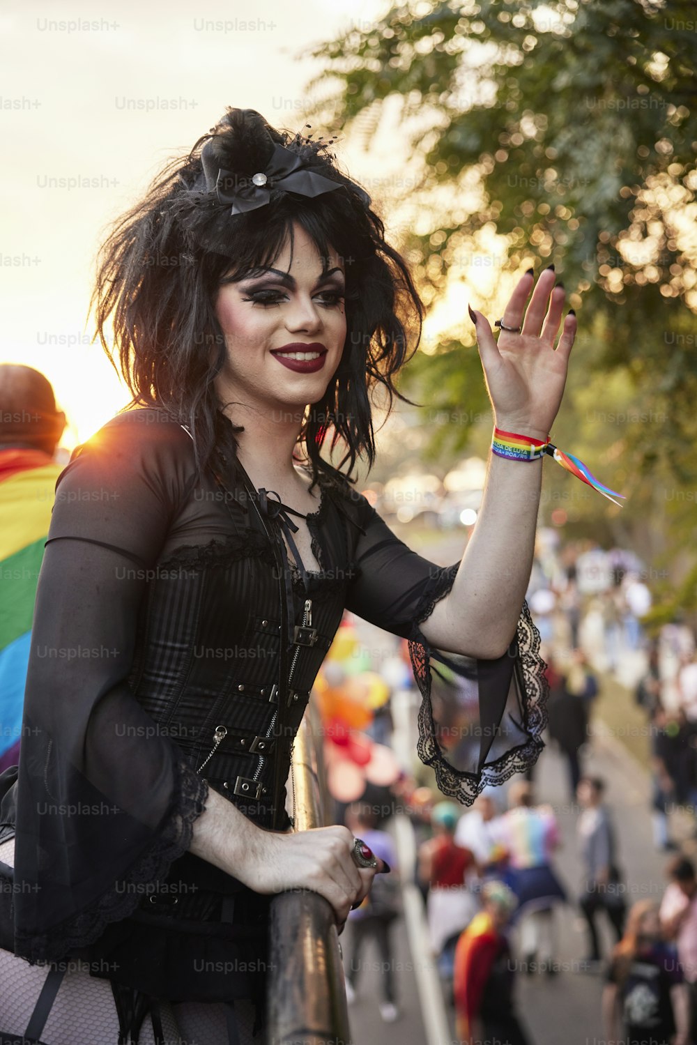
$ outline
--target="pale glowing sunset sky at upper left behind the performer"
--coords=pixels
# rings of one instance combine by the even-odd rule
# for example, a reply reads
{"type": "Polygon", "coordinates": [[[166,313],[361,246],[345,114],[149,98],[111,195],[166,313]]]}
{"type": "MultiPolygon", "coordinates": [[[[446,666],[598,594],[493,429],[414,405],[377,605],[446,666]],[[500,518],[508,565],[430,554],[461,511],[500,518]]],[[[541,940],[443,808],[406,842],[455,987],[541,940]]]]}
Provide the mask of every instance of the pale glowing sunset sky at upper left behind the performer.
{"type": "MultiPolygon", "coordinates": [[[[382,9],[375,0],[3,4],[0,361],[49,377],[70,422],[66,447],[129,398],[86,325],[107,224],[227,104],[301,130],[318,66],[297,55],[382,9]]],[[[339,146],[351,173],[375,184],[398,169],[398,154],[396,135],[370,155],[339,146]]]]}

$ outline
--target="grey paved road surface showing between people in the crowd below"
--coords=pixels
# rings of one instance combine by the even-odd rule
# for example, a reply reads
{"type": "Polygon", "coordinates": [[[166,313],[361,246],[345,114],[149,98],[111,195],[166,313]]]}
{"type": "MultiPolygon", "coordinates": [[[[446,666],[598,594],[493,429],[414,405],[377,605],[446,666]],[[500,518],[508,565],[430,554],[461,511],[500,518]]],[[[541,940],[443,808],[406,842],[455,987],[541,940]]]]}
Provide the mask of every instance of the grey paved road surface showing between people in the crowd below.
{"type": "MultiPolygon", "coordinates": [[[[647,773],[619,742],[605,738],[594,740],[586,760],[586,771],[603,776],[607,783],[607,797],[619,835],[629,902],[646,898],[659,900],[665,886],[663,872],[667,855],[656,853],[652,844],[647,773]]],[[[542,753],[535,783],[539,799],[551,803],[557,812],[562,837],[557,866],[573,896],[579,877],[575,837],[578,809],[568,803],[564,767],[555,751],[547,749],[542,753]]],[[[694,849],[694,842],[688,840],[691,822],[678,820],[674,829],[678,837],[686,839],[684,849],[694,849]]],[[[423,957],[415,957],[411,953],[403,923],[398,923],[393,931],[401,1017],[392,1024],[381,1021],[377,1008],[379,958],[376,952],[367,951],[365,960],[369,965],[372,962],[372,968],[364,971],[358,997],[349,1009],[353,1041],[356,1043],[422,1045],[427,1040],[414,974],[415,962],[423,960],[423,957]]],[[[558,912],[557,932],[559,974],[554,979],[548,979],[543,974],[518,977],[519,1009],[528,1024],[531,1042],[534,1045],[603,1045],[605,1036],[600,1018],[602,975],[589,975],[578,970],[586,953],[583,923],[575,911],[566,908],[558,912]]],[[[603,938],[607,950],[609,933],[603,931],[603,938]]],[[[447,1015],[451,1037],[439,1042],[439,1045],[451,1045],[456,1040],[452,1011],[448,1009],[447,1015]]]]}

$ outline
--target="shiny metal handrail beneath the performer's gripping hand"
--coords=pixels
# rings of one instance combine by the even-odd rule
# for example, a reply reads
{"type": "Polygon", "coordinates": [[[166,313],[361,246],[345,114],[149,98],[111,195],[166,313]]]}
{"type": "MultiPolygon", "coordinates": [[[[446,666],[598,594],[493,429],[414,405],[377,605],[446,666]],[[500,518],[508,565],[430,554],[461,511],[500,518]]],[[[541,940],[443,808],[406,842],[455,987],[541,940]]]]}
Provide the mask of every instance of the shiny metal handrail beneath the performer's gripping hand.
{"type": "MultiPolygon", "coordinates": [[[[295,830],[325,827],[328,792],[313,701],[295,740],[295,830]],[[316,726],[315,732],[312,726],[316,726]]],[[[293,889],[271,903],[266,1022],[269,1045],[350,1045],[341,944],[331,905],[293,889]]]]}

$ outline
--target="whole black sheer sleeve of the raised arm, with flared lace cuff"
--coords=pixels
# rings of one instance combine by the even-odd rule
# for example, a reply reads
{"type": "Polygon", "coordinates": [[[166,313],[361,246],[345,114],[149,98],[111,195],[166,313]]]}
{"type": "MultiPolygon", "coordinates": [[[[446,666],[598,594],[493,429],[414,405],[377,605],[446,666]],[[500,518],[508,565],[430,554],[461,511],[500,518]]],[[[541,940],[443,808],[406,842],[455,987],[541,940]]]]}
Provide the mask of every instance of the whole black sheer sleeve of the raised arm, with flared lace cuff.
{"type": "Polygon", "coordinates": [[[346,608],[409,640],[422,696],[419,758],[434,767],[443,794],[470,805],[486,785],[502,784],[532,766],[543,746],[549,686],[539,632],[524,603],[516,635],[502,657],[468,657],[432,647],[419,625],[450,591],[460,563],[438,566],[424,559],[363,502],[357,577],[346,608]]]}

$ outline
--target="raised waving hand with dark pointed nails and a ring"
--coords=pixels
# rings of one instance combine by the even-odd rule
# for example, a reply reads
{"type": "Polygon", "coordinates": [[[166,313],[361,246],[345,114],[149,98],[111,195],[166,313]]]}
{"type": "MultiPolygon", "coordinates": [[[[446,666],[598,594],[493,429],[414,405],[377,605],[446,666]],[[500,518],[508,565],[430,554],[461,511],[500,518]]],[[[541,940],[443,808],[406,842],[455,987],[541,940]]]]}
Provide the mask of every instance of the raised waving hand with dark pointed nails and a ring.
{"type": "Polygon", "coordinates": [[[532,269],[525,274],[503,316],[504,326],[520,333],[502,330],[498,342],[486,317],[469,308],[496,425],[538,439],[548,438],[557,416],[577,329],[576,316],[568,312],[554,347],[565,298],[563,286],[554,284],[552,266],[536,285],[532,269]]]}

